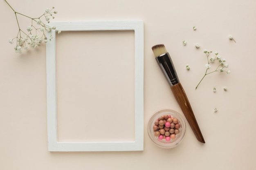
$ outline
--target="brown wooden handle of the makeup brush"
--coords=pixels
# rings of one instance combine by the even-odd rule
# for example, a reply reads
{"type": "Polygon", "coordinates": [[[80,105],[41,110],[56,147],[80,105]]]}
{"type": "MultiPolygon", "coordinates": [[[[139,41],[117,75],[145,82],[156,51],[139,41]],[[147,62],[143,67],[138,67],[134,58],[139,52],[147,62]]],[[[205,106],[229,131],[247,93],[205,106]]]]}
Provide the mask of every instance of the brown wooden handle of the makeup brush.
{"type": "Polygon", "coordinates": [[[184,113],[187,121],[189,122],[189,125],[195,134],[195,137],[198,139],[198,141],[205,143],[203,135],[200,131],[198,123],[195,119],[195,115],[190,106],[189,100],[186,97],[186,93],[185,93],[182,85],[180,83],[177,83],[177,84],[171,86],[171,90],[173,92],[175,99],[177,100],[178,104],[180,105],[180,108],[181,108],[182,112],[184,113]]]}

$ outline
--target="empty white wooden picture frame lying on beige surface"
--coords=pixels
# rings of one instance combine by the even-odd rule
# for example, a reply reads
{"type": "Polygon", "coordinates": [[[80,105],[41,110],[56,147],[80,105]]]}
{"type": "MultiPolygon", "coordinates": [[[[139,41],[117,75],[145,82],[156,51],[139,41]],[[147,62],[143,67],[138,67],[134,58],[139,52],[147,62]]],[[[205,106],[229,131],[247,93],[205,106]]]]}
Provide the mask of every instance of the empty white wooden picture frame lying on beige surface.
{"type": "MultiPolygon", "coordinates": [[[[139,151],[144,144],[144,24],[142,20],[52,22],[60,31],[122,31],[135,35],[135,140],[106,142],[59,142],[56,96],[56,31],[46,44],[47,137],[49,151],[139,151]]],[[[48,33],[49,35],[49,33],[48,33]]]]}

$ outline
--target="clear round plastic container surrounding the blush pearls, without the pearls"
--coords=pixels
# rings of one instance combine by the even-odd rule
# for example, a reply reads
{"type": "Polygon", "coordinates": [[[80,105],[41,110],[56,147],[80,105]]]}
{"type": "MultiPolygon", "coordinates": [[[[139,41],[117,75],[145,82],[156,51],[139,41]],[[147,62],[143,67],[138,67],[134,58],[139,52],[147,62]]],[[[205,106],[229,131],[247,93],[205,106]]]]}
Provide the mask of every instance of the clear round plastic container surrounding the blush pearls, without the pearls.
{"type": "Polygon", "coordinates": [[[159,146],[160,148],[174,148],[175,146],[177,146],[178,144],[180,144],[180,142],[182,141],[182,139],[184,139],[185,135],[186,135],[186,122],[185,119],[183,117],[183,115],[181,115],[180,113],[178,113],[175,110],[172,110],[170,108],[162,108],[160,110],[155,111],[155,113],[153,113],[153,115],[150,117],[149,121],[148,121],[148,135],[150,137],[150,139],[153,141],[153,143],[157,146],[159,146]],[[159,118],[162,117],[164,115],[171,115],[171,117],[175,117],[179,120],[179,124],[180,124],[180,132],[176,135],[175,139],[171,139],[170,141],[166,141],[165,139],[158,139],[158,137],[156,137],[154,134],[154,130],[153,130],[153,126],[155,124],[155,121],[159,118]]]}

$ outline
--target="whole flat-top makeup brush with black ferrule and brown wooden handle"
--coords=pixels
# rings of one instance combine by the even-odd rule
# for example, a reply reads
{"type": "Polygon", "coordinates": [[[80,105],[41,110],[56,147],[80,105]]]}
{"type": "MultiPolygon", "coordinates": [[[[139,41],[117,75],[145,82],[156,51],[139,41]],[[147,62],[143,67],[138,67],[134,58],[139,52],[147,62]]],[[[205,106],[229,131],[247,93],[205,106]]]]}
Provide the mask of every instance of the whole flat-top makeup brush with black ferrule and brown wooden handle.
{"type": "Polygon", "coordinates": [[[190,127],[195,134],[195,137],[198,139],[198,141],[205,143],[201,130],[198,126],[195,115],[189,103],[189,99],[187,98],[186,93],[181,83],[179,82],[169,53],[166,51],[166,48],[163,44],[153,46],[152,50],[156,57],[158,65],[160,66],[170,85],[171,91],[173,92],[177,103],[179,104],[182,112],[184,113],[190,127]]]}

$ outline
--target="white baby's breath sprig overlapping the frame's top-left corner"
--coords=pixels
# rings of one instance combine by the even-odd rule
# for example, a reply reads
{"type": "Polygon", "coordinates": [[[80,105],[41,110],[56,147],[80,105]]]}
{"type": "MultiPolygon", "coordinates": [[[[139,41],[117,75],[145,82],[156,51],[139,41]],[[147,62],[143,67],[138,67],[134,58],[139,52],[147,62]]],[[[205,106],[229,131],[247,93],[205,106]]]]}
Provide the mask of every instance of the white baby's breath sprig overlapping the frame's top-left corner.
{"type": "MultiPolygon", "coordinates": [[[[40,46],[42,42],[47,43],[48,40],[51,40],[53,37],[52,30],[56,30],[55,26],[49,26],[43,22],[45,20],[49,24],[50,18],[54,19],[54,14],[57,13],[57,11],[54,11],[54,7],[51,9],[47,8],[45,12],[40,15],[37,18],[32,18],[27,15],[24,15],[22,13],[18,13],[15,11],[11,5],[7,2],[7,0],[4,0],[9,7],[13,10],[16,21],[18,24],[18,33],[15,38],[10,38],[9,43],[13,44],[14,41],[16,41],[16,46],[14,47],[14,50],[16,53],[22,53],[22,49],[28,50],[29,46],[31,46],[33,49],[36,49],[37,46],[40,46]],[[22,15],[30,20],[30,24],[27,26],[27,30],[22,30],[20,28],[20,23],[18,20],[17,15],[22,15]],[[50,37],[47,38],[46,33],[50,33],[50,37]]],[[[58,33],[61,33],[60,30],[56,30],[58,33]]]]}

